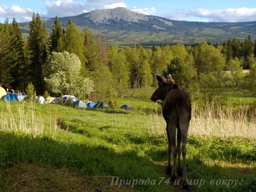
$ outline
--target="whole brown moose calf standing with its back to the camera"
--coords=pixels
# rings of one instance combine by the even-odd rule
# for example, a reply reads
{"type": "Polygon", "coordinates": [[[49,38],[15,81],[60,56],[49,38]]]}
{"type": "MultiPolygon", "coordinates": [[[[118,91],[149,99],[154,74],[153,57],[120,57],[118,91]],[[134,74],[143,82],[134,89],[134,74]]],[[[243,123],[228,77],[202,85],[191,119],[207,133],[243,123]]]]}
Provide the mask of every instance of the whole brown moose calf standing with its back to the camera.
{"type": "Polygon", "coordinates": [[[172,76],[165,79],[155,74],[158,80],[159,88],[153,93],[151,100],[157,102],[163,100],[162,113],[166,121],[166,132],[168,138],[168,165],[166,173],[171,173],[170,157],[173,153],[173,173],[172,180],[176,179],[176,157],[178,153],[178,176],[182,176],[182,168],[180,165],[180,154],[183,156],[183,188],[187,189],[187,172],[186,172],[186,143],[189,121],[191,119],[191,101],[189,95],[178,89],[172,76]],[[177,130],[177,145],[176,145],[177,130]],[[180,144],[182,143],[182,148],[180,144]]]}

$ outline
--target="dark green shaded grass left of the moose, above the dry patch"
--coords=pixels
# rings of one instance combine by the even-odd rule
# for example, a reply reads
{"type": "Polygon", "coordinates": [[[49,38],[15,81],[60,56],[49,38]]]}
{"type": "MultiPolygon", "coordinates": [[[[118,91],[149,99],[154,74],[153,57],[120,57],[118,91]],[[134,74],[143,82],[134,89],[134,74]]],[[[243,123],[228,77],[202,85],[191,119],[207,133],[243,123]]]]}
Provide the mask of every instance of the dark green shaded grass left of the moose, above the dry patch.
{"type": "MultiPolygon", "coordinates": [[[[46,163],[72,168],[86,176],[117,176],[120,179],[159,179],[161,173],[135,149],[115,150],[103,143],[55,141],[50,137],[0,132],[0,169],[20,163],[46,163]]],[[[109,183],[111,183],[111,179],[109,183]]],[[[169,191],[166,185],[134,185],[144,191],[169,191]]],[[[1,186],[0,186],[1,189],[1,186]]]]}

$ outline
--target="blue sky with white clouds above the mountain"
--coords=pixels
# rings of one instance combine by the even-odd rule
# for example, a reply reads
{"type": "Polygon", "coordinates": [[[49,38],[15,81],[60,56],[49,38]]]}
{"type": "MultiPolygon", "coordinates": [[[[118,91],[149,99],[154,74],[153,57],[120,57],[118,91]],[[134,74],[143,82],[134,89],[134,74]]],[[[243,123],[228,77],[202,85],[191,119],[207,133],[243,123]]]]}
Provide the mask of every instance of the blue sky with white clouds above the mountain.
{"type": "Polygon", "coordinates": [[[13,17],[18,22],[29,22],[33,12],[41,17],[74,16],[94,9],[125,7],[146,15],[174,20],[201,22],[256,21],[255,0],[9,0],[0,1],[0,21],[13,17]]]}

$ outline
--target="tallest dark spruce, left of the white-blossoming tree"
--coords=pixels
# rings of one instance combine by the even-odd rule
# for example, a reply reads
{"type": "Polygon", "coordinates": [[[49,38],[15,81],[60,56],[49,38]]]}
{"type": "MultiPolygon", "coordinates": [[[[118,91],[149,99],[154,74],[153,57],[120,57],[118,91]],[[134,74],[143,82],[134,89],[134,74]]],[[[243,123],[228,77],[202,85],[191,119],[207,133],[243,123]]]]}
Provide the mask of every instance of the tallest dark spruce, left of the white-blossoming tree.
{"type": "Polygon", "coordinates": [[[46,46],[48,37],[46,27],[42,24],[39,13],[32,16],[28,36],[28,46],[30,51],[31,82],[39,94],[44,91],[44,78],[42,77],[42,67],[47,60],[46,46]]]}

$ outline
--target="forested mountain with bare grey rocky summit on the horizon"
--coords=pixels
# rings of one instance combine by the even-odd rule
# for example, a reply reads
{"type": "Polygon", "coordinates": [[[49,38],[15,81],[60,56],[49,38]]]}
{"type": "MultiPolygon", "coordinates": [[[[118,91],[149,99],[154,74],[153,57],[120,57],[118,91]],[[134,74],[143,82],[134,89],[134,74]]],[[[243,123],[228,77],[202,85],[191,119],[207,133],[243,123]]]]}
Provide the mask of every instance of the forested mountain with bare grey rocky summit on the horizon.
{"type": "MultiPolygon", "coordinates": [[[[159,45],[186,43],[191,45],[202,40],[223,42],[230,37],[244,40],[250,34],[256,38],[256,21],[238,23],[188,22],[145,15],[126,8],[96,9],[77,16],[58,18],[62,26],[71,19],[82,30],[86,25],[96,36],[99,32],[107,44],[126,46],[134,43],[159,45]]],[[[42,18],[51,31],[55,18],[42,18]]],[[[29,23],[19,23],[23,33],[28,33],[29,23]]]]}

